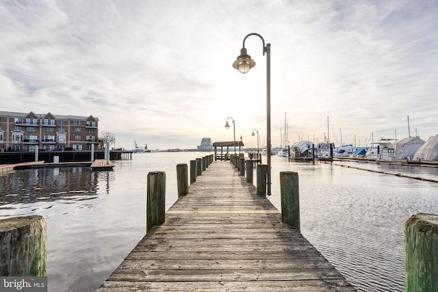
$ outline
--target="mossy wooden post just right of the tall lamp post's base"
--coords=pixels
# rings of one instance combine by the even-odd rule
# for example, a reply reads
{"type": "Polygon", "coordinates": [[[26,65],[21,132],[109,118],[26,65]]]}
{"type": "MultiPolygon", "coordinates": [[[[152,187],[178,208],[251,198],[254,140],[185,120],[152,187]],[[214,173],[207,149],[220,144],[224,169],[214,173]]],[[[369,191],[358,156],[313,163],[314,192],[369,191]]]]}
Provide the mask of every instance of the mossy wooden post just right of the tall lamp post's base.
{"type": "Polygon", "coordinates": [[[300,231],[300,192],[298,172],[280,172],[282,221],[300,231]]]}

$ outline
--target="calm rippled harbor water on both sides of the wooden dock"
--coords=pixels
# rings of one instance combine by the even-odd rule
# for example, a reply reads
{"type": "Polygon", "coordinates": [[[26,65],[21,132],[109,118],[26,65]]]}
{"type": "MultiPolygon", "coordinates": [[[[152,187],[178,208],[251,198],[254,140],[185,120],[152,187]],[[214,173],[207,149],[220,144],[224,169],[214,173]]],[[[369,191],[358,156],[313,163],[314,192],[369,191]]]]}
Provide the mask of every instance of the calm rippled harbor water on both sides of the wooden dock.
{"type": "MultiPolygon", "coordinates": [[[[148,172],[166,172],[169,208],[177,200],[176,165],[207,154],[138,153],[114,161],[112,172],[3,174],[0,219],[42,215],[49,291],[94,291],[144,236],[148,172]]],[[[438,178],[436,168],[352,164],[438,178]]],[[[277,209],[280,171],[298,172],[302,234],[359,291],[404,291],[404,222],[415,213],[438,213],[437,183],[272,157],[270,200],[277,209]]]]}

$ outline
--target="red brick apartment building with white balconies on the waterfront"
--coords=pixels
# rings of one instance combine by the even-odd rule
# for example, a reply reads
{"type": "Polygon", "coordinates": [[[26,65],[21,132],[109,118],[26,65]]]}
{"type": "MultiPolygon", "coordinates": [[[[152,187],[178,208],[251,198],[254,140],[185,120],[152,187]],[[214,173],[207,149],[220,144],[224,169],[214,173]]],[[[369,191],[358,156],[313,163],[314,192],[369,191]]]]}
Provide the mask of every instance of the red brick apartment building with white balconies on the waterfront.
{"type": "Polygon", "coordinates": [[[99,148],[99,118],[0,111],[1,151],[99,148]]]}

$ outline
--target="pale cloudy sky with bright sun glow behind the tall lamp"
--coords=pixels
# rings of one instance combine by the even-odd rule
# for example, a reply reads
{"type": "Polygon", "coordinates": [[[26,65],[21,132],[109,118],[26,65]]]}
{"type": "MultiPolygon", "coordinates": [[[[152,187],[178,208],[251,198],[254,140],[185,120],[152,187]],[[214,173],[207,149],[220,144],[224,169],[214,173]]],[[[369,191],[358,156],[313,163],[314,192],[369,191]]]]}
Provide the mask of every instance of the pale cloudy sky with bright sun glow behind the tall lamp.
{"type": "Polygon", "coordinates": [[[438,2],[21,0],[0,2],[0,110],[95,116],[116,146],[196,148],[203,137],[272,146],[364,146],[438,133],[438,2]],[[231,119],[229,120],[231,122],[231,119]]]}

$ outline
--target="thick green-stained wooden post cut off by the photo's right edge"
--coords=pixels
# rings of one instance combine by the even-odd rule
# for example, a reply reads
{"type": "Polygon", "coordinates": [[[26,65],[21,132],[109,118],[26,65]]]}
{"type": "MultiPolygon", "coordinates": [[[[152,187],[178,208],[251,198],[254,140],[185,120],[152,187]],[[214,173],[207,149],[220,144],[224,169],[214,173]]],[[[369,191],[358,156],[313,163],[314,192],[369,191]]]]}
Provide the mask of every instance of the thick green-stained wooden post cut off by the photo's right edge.
{"type": "Polygon", "coordinates": [[[405,289],[438,291],[438,215],[418,213],[404,224],[405,289]]]}

